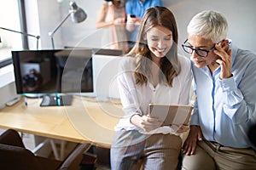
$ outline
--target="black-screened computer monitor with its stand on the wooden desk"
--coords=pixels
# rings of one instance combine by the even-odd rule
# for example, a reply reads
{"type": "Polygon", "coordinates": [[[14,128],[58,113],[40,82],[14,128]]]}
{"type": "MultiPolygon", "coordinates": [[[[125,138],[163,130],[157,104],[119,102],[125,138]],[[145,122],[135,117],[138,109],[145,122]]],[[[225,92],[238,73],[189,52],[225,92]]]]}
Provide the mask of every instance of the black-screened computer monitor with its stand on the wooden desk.
{"type": "Polygon", "coordinates": [[[91,49],[12,51],[17,94],[43,96],[41,106],[71,105],[72,94],[93,92],[91,49]]]}

